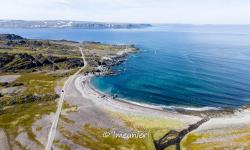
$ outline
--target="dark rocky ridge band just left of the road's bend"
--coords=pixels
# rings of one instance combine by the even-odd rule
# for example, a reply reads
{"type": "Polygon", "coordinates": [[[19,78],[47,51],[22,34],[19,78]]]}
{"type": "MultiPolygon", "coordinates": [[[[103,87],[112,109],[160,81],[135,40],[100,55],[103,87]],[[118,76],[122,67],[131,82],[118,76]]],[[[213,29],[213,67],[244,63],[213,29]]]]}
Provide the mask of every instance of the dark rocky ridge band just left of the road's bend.
{"type": "Polygon", "coordinates": [[[40,70],[43,67],[47,69],[71,69],[80,67],[83,61],[80,58],[67,58],[57,56],[44,56],[38,54],[32,56],[26,53],[0,55],[0,70],[3,72],[16,72],[20,70],[40,70]]]}

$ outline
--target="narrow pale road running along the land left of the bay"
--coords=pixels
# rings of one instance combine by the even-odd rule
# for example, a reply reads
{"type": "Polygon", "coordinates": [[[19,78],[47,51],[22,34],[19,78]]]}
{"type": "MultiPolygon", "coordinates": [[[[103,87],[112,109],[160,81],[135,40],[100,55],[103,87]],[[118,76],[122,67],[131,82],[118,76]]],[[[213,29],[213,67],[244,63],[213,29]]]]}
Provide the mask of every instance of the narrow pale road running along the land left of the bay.
{"type": "Polygon", "coordinates": [[[79,69],[75,74],[70,76],[68,78],[68,80],[65,82],[64,86],[63,86],[61,96],[60,96],[61,98],[58,101],[58,106],[57,106],[55,118],[54,118],[54,121],[53,121],[52,126],[50,128],[49,135],[48,135],[48,142],[47,142],[47,145],[46,145],[46,150],[51,150],[52,145],[53,145],[53,141],[54,141],[55,136],[56,136],[56,128],[57,128],[59,117],[60,117],[60,114],[61,114],[61,111],[62,111],[64,96],[65,96],[65,90],[66,90],[67,86],[69,85],[69,83],[72,82],[72,80],[76,77],[76,75],[78,75],[87,66],[87,61],[84,58],[82,48],[81,47],[78,47],[78,48],[79,48],[79,51],[81,52],[82,59],[83,59],[83,62],[84,62],[84,66],[81,69],[79,69]]]}

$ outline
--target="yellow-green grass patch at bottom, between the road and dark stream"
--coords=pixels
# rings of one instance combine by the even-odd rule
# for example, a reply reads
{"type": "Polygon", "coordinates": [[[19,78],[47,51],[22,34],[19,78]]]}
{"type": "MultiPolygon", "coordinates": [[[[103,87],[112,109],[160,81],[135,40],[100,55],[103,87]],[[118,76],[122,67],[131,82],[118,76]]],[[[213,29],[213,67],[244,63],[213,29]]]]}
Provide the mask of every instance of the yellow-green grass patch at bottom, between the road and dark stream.
{"type": "Polygon", "coordinates": [[[130,149],[130,150],[148,150],[154,149],[147,144],[147,139],[130,138],[123,139],[117,137],[103,137],[105,131],[110,129],[96,128],[89,124],[85,125],[81,131],[72,133],[70,131],[60,129],[61,133],[67,139],[91,150],[110,150],[112,149],[130,149]]]}

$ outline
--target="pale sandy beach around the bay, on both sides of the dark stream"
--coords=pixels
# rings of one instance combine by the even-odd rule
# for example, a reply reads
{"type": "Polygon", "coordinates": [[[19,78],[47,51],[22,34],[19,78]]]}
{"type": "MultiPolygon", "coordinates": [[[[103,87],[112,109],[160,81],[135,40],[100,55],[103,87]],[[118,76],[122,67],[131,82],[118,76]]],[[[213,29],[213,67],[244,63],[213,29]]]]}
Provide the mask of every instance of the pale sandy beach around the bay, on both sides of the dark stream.
{"type": "MultiPolygon", "coordinates": [[[[121,100],[115,100],[109,95],[105,95],[91,85],[90,80],[93,75],[81,76],[75,80],[75,85],[82,96],[91,99],[99,108],[124,114],[136,114],[151,117],[162,117],[166,119],[177,119],[184,124],[192,124],[202,119],[201,117],[182,114],[174,111],[161,110],[159,107],[150,105],[140,105],[121,100]]],[[[199,112],[198,112],[199,113],[199,112]]],[[[250,125],[250,112],[248,110],[236,111],[233,114],[218,115],[201,125],[197,131],[223,129],[233,127],[247,127],[250,125]]]]}

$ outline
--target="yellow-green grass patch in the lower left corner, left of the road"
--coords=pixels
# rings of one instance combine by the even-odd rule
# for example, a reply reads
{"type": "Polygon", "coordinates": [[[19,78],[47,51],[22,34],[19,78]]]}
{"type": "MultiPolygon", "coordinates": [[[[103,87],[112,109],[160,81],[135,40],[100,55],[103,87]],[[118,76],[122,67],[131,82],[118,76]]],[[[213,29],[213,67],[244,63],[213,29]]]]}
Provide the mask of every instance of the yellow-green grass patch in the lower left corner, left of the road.
{"type": "Polygon", "coordinates": [[[0,115],[0,128],[5,130],[11,144],[16,144],[13,142],[20,130],[27,132],[31,140],[40,144],[32,132],[32,124],[42,115],[55,112],[55,110],[56,103],[54,101],[15,105],[5,109],[3,114],[0,115]]]}

